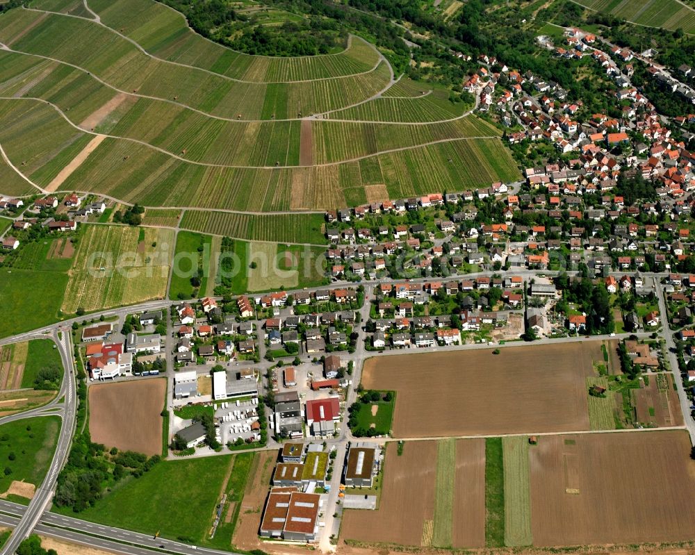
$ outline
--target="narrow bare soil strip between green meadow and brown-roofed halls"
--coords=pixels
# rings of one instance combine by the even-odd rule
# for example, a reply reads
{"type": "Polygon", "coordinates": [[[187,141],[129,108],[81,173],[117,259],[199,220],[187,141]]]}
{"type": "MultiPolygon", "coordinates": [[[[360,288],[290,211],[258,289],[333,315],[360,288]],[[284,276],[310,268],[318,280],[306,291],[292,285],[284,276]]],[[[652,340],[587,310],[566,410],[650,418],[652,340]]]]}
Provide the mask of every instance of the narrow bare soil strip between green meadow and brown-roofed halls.
{"type": "MultiPolygon", "coordinates": [[[[270,478],[272,471],[275,470],[275,460],[277,452],[261,451],[254,458],[249,476],[253,477],[246,483],[244,499],[241,502],[241,510],[236,521],[232,544],[238,549],[251,551],[252,549],[263,549],[259,540],[259,527],[261,527],[261,516],[265,498],[268,497],[270,478]]],[[[227,515],[232,515],[234,510],[230,507],[227,515]]]]}

